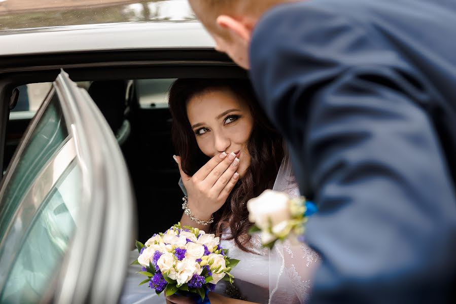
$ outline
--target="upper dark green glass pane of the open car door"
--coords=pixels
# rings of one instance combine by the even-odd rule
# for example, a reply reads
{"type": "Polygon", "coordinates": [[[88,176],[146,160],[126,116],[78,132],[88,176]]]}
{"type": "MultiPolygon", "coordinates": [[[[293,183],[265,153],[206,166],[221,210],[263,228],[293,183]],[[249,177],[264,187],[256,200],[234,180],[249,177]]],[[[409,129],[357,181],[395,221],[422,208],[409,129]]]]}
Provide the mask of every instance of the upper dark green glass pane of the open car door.
{"type": "MultiPolygon", "coordinates": [[[[68,137],[63,113],[58,98],[53,95],[50,104],[40,118],[36,128],[30,135],[30,140],[18,158],[14,172],[3,195],[0,198],[0,241],[27,189],[40,173],[40,170],[60,149],[68,137]]],[[[7,172],[7,174],[9,174],[7,172]]],[[[6,176],[8,177],[8,175],[6,176]]],[[[0,253],[1,253],[0,248],[0,253]]]]}

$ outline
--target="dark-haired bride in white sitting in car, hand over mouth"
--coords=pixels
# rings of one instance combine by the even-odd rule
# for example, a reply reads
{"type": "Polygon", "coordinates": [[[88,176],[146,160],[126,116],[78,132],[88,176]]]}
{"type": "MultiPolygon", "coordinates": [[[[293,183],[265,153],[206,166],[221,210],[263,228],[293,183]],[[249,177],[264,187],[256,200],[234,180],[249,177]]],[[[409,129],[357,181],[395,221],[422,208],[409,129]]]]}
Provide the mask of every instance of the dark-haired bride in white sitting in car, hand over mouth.
{"type": "MultiPolygon", "coordinates": [[[[276,243],[272,250],[265,249],[258,235],[247,234],[252,226],[249,199],[268,188],[299,196],[282,138],[258,106],[250,83],[180,79],[170,88],[169,109],[179,154],[174,160],[188,206],[181,224],[221,236],[222,247],[240,260],[231,271],[234,285],[220,281],[209,292],[211,303],[305,303],[319,256],[304,244],[276,243]]],[[[147,302],[164,302],[148,291],[147,302]]],[[[121,301],[133,298],[142,302],[125,293],[121,301]]],[[[166,302],[191,300],[173,295],[166,302]]]]}

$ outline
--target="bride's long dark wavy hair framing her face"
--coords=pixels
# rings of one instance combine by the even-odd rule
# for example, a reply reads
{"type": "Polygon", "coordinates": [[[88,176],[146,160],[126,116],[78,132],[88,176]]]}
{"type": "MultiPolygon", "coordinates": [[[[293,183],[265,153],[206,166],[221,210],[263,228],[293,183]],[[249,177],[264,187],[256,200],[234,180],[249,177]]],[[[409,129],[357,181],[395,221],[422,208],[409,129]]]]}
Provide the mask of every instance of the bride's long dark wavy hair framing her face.
{"type": "Polygon", "coordinates": [[[254,119],[248,142],[250,167],[231,191],[226,203],[215,214],[211,233],[221,236],[222,229],[229,226],[231,236],[243,251],[250,237],[245,237],[252,223],[249,221],[247,201],[270,189],[284,157],[282,137],[272,127],[260,108],[250,82],[234,79],[179,79],[169,89],[169,110],[172,117],[172,142],[181,156],[182,170],[192,176],[209,158],[198,147],[195,134],[187,117],[187,102],[194,96],[214,90],[230,90],[247,102],[254,119]]]}

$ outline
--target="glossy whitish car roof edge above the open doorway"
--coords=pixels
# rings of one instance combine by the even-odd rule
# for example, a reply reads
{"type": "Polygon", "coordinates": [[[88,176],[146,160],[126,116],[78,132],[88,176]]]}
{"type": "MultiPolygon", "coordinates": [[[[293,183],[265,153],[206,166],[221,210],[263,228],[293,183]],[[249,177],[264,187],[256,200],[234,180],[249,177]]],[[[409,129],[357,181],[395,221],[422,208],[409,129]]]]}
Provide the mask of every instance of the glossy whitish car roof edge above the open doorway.
{"type": "Polygon", "coordinates": [[[64,52],[206,49],[211,36],[197,21],[124,22],[1,31],[0,56],[64,52]]]}

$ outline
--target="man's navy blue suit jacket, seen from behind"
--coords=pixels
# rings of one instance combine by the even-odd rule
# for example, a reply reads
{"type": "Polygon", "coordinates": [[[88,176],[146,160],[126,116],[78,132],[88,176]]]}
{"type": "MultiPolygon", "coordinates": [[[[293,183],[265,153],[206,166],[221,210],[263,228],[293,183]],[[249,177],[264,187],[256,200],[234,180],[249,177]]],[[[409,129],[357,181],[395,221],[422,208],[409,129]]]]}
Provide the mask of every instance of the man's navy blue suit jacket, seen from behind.
{"type": "Polygon", "coordinates": [[[250,60],[319,206],[305,236],[322,257],[311,301],[450,301],[456,1],[280,5],[256,25],[250,60]]]}

